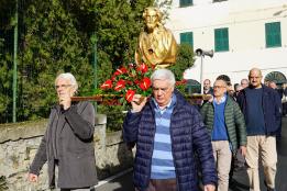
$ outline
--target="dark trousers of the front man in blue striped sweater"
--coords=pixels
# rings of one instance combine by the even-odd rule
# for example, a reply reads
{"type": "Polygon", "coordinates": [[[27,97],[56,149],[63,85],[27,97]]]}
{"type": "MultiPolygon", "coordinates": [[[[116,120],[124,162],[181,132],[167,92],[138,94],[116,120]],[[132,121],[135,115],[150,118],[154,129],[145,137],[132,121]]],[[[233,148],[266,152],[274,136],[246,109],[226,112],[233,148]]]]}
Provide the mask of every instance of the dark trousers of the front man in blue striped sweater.
{"type": "Polygon", "coordinates": [[[177,191],[176,179],[151,179],[145,191],[177,191]]]}

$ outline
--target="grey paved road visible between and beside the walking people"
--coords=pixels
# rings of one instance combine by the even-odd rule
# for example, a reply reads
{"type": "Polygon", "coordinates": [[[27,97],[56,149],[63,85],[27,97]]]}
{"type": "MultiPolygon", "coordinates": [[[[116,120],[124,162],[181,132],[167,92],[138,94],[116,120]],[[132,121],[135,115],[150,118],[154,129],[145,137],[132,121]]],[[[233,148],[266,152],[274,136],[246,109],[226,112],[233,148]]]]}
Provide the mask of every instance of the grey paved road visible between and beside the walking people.
{"type": "MultiPolygon", "coordinates": [[[[287,117],[283,119],[283,134],[282,141],[277,143],[278,164],[276,176],[276,190],[287,191],[287,117]]],[[[133,191],[132,172],[128,172],[119,178],[115,178],[97,188],[97,191],[133,191]]],[[[235,171],[233,176],[233,183],[230,186],[230,191],[247,191],[249,180],[246,171],[235,171]]],[[[263,170],[261,169],[261,188],[265,191],[263,184],[263,170]]]]}

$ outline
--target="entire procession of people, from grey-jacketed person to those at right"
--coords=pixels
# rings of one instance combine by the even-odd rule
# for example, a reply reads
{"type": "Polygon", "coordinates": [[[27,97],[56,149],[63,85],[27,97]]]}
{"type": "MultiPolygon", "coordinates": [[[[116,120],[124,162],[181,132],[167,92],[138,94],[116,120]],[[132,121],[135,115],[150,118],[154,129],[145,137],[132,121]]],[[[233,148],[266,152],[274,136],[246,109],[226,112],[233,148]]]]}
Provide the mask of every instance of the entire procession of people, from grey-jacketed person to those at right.
{"type": "MultiPolygon", "coordinates": [[[[261,161],[267,191],[275,191],[284,101],[279,92],[286,92],[286,86],[278,91],[273,82],[262,83],[262,71],[252,68],[249,79],[234,89],[227,75],[212,87],[207,79],[203,93],[212,99],[198,109],[176,89],[170,70],[156,69],[151,76],[152,97],[135,94],[123,123],[124,142],[136,146],[135,191],[228,191],[238,156],[246,165],[250,190],[261,190],[261,161]]],[[[98,182],[93,106],[71,101],[78,89],[71,74],[60,74],[55,89],[58,104],[51,111],[29,180],[37,182],[47,162],[49,187],[55,187],[57,177],[62,191],[93,190],[98,182]]]]}

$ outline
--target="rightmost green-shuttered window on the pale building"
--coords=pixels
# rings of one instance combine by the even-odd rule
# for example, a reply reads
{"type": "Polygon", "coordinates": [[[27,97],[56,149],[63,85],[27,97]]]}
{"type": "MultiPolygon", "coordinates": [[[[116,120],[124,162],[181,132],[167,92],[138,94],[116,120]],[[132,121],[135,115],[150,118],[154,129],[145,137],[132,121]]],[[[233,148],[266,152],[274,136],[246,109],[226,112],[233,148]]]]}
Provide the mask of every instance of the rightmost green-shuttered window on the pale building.
{"type": "Polygon", "coordinates": [[[282,46],[280,22],[265,23],[266,47],[282,46]]]}

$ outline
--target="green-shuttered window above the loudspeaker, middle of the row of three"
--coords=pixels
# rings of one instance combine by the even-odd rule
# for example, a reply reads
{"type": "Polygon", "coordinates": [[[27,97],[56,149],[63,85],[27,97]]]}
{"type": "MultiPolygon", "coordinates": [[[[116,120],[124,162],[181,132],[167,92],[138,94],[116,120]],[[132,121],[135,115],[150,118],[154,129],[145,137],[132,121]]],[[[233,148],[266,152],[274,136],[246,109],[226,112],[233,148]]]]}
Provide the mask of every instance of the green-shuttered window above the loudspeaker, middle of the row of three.
{"type": "Polygon", "coordinates": [[[214,30],[214,49],[216,52],[229,50],[229,29],[216,29],[214,30]]]}

